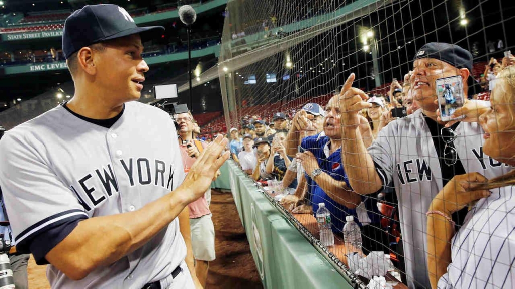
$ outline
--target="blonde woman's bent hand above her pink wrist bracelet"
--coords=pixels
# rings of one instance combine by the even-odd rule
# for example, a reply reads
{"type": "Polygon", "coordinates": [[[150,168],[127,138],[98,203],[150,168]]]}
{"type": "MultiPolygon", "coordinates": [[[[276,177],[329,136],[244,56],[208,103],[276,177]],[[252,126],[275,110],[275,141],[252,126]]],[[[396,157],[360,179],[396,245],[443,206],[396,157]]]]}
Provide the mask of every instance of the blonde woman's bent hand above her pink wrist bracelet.
{"type": "Polygon", "coordinates": [[[488,197],[491,194],[488,190],[473,190],[474,183],[486,182],[488,179],[477,172],[456,175],[433,199],[430,210],[451,215],[480,198],[488,197]]]}

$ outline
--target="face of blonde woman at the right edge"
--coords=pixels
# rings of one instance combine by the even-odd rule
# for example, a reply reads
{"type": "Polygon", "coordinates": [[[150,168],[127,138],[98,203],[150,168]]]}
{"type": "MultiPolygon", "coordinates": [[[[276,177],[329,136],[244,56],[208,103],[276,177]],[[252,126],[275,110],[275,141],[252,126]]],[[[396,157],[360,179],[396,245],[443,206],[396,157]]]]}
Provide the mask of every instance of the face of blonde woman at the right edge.
{"type": "Polygon", "coordinates": [[[513,165],[515,155],[515,133],[513,133],[515,103],[512,97],[505,97],[506,86],[503,80],[497,82],[490,96],[491,107],[479,118],[485,134],[483,151],[499,161],[513,165]],[[511,101],[509,101],[511,100],[511,101]]]}

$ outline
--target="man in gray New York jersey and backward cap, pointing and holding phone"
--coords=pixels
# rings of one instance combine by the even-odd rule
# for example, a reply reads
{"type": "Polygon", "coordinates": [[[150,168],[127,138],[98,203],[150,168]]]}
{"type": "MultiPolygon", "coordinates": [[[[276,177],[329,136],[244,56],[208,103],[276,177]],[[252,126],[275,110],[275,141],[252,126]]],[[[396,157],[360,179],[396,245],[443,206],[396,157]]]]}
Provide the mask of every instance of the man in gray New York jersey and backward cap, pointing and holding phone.
{"type": "Polygon", "coordinates": [[[467,118],[453,121],[448,127],[438,121],[435,80],[459,75],[467,95],[470,52],[457,45],[427,43],[418,51],[413,65],[410,82],[421,109],[390,122],[368,152],[356,128],[358,112],[371,104],[365,102],[367,96],[362,91],[352,87],[351,74],[340,94],[345,136],[342,162],[351,187],[358,193],[383,190],[393,180],[399,200],[407,285],[428,288],[425,213],[433,198],[456,174],[480,172],[490,178],[510,168],[484,154],[480,126],[466,122],[477,121],[478,112],[488,103],[467,100],[461,111],[468,111],[467,118]]]}

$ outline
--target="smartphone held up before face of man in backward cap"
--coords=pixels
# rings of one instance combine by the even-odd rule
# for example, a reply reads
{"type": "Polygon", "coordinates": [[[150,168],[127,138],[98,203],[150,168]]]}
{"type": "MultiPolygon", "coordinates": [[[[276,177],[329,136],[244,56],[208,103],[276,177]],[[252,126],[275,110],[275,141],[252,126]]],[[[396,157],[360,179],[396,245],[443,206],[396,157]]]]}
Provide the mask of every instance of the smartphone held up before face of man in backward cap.
{"type": "Polygon", "coordinates": [[[437,79],[436,95],[441,119],[443,121],[451,120],[451,115],[465,102],[461,77],[451,76],[437,79]]]}

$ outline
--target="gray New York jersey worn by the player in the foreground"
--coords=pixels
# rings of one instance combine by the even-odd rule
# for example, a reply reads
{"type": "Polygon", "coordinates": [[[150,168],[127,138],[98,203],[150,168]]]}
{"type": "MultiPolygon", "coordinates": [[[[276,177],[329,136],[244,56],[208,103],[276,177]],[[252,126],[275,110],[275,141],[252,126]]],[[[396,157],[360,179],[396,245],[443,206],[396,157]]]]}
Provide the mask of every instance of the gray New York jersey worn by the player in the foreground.
{"type": "MultiPolygon", "coordinates": [[[[184,178],[169,115],[139,102],[126,103],[110,129],[59,105],[7,132],[0,151],[0,185],[19,243],[77,215],[138,210],[184,178]]],[[[169,276],[185,255],[176,219],[140,249],[80,281],[52,265],[47,276],[59,288],[139,289],[169,276]]]]}

